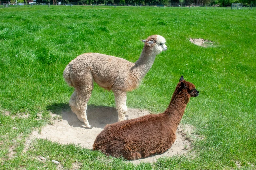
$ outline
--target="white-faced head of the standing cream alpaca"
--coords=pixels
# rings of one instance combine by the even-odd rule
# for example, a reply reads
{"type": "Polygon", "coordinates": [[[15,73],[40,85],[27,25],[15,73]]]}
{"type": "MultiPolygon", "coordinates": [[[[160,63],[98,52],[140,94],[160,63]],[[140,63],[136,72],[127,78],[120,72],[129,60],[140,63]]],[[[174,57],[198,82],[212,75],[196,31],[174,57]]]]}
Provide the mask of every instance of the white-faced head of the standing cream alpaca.
{"type": "Polygon", "coordinates": [[[145,43],[145,46],[150,47],[156,55],[167,50],[167,46],[164,44],[166,40],[160,35],[151,35],[147,39],[141,41],[145,43]]]}

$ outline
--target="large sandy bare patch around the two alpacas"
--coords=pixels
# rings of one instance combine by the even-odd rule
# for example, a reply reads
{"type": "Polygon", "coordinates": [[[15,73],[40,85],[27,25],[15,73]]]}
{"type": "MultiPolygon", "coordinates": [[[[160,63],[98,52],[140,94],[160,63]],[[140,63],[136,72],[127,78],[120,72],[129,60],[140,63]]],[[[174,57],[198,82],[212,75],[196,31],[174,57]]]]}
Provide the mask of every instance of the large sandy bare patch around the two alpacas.
{"type": "MultiPolygon", "coordinates": [[[[127,117],[129,119],[137,118],[150,114],[145,110],[128,109],[127,117]]],[[[53,114],[53,116],[55,116],[53,114]]],[[[60,144],[80,144],[82,147],[92,149],[92,145],[96,136],[103,130],[105,125],[118,121],[117,111],[113,107],[88,107],[87,118],[92,129],[86,129],[83,122],[77,119],[77,116],[71,111],[62,111],[62,120],[54,120],[53,125],[47,125],[42,128],[41,134],[37,131],[32,132],[30,140],[33,138],[43,138],[51,141],[59,142],[60,144]]],[[[164,154],[151,156],[149,158],[131,161],[133,163],[155,162],[157,158],[162,156],[173,156],[186,153],[190,148],[190,142],[185,140],[187,131],[191,131],[191,127],[186,125],[177,129],[177,139],[172,148],[164,154]]]]}

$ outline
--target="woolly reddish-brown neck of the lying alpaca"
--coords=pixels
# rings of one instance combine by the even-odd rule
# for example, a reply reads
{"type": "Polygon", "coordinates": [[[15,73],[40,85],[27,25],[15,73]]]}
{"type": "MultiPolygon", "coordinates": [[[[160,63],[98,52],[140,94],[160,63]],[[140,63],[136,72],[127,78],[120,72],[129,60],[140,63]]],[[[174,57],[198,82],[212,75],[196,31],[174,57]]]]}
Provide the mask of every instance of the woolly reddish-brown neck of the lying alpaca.
{"type": "Polygon", "coordinates": [[[188,102],[189,96],[187,92],[175,91],[168,108],[164,112],[170,118],[170,125],[175,130],[177,130],[188,102]]]}

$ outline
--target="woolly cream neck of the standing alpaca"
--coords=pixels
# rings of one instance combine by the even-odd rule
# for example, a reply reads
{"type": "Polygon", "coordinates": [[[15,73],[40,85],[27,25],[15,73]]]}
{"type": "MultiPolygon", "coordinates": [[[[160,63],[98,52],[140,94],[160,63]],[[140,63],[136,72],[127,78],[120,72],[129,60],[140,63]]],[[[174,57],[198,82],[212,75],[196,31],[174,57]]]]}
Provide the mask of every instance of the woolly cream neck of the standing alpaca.
{"type": "Polygon", "coordinates": [[[135,62],[131,68],[131,72],[141,80],[152,67],[156,58],[155,52],[152,47],[144,45],[140,58],[135,62]]]}

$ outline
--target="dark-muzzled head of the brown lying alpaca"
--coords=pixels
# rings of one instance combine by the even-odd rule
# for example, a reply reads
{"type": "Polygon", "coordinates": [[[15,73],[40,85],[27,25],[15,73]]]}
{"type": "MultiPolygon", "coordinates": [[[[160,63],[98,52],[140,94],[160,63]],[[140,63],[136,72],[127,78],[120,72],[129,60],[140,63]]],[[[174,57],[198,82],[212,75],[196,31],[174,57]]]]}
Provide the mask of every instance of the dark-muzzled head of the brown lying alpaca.
{"type": "Polygon", "coordinates": [[[183,76],[180,77],[178,85],[179,84],[180,84],[179,89],[186,91],[189,97],[197,97],[199,95],[198,94],[199,91],[196,90],[195,85],[188,81],[185,81],[183,76]]]}

